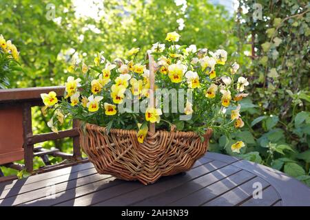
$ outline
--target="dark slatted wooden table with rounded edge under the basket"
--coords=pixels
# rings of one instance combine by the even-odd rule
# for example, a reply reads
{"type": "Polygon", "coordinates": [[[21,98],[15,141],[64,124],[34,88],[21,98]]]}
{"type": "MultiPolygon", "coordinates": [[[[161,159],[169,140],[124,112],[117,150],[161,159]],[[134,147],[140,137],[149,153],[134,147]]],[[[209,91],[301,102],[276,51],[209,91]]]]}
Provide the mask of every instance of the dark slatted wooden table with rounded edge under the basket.
{"type": "Polygon", "coordinates": [[[0,195],[0,206],[310,206],[310,188],[296,179],[218,153],[149,186],[99,175],[87,163],[3,182],[0,195]],[[254,199],[260,186],[262,199],[254,199]]]}

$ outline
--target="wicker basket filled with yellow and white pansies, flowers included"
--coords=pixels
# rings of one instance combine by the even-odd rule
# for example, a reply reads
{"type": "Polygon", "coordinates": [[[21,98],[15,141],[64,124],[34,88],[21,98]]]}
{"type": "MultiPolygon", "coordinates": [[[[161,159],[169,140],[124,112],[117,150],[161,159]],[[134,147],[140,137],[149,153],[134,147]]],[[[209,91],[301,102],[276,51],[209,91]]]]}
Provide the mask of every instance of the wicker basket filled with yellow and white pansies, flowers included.
{"type": "Polygon", "coordinates": [[[99,53],[94,65],[74,63],[69,69],[79,78],[68,77],[62,100],[41,94],[43,111],[54,111],[48,126],[58,132],[63,118],[78,119],[81,146],[99,173],[149,184],[189,170],[206,153],[212,130],[243,126],[238,101],[249,83],[225,50],[176,45],[179,38],[168,33],[171,45],[154,43],[143,61],[132,48],[128,60],[99,53]]]}

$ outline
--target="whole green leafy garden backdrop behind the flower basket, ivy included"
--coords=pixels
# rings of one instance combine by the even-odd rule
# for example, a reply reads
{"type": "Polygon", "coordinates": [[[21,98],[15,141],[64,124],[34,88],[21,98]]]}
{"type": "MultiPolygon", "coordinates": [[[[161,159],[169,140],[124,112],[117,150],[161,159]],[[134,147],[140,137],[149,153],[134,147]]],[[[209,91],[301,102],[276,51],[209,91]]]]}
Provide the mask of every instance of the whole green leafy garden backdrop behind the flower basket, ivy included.
{"type": "MultiPolygon", "coordinates": [[[[132,47],[146,52],[174,30],[180,45],[227,50],[250,82],[250,97],[242,102],[245,126],[229,138],[214,134],[210,150],[236,155],[230,145],[243,140],[238,156],[310,185],[308,1],[2,0],[0,8],[0,34],[21,52],[23,72],[12,73],[12,88],[63,85],[72,58],[92,63],[96,52],[107,59],[132,47]]],[[[34,133],[49,132],[49,116],[32,113],[34,133]]],[[[70,140],[41,145],[72,152],[70,140]]],[[[43,166],[41,159],[35,166],[43,166]]]]}

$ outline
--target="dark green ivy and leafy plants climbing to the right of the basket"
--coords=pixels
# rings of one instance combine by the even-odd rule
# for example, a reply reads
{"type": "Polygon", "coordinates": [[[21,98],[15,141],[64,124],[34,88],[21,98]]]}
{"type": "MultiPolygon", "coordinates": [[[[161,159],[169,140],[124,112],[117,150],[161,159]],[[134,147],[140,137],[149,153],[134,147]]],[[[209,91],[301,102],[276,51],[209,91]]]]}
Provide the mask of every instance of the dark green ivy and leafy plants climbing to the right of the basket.
{"type": "MultiPolygon", "coordinates": [[[[241,108],[247,112],[241,132],[251,133],[254,143],[247,144],[239,156],[281,170],[310,186],[309,3],[240,0],[238,11],[239,49],[249,42],[251,34],[256,47],[256,58],[243,65],[250,81],[254,80],[251,100],[247,98],[245,107],[255,107],[250,111],[241,108]],[[262,5],[262,20],[253,18],[254,3],[262,5]],[[242,8],[248,12],[243,13],[242,8]]],[[[247,135],[244,138],[253,141],[247,135]]],[[[229,153],[223,150],[223,143],[229,140],[223,136],[215,139],[211,149],[229,153]]]]}

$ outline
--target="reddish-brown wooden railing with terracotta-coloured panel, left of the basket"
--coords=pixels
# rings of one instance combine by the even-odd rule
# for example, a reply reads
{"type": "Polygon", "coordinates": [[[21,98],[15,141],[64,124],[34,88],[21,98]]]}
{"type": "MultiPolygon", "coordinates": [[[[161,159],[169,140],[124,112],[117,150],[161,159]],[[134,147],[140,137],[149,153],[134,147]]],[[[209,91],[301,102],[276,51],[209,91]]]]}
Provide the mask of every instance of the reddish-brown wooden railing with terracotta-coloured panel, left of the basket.
{"type": "MultiPolygon", "coordinates": [[[[42,106],[40,94],[55,91],[61,98],[64,87],[36,87],[26,89],[0,89],[0,166],[17,170],[27,170],[29,173],[42,173],[64,166],[72,166],[83,162],[79,146],[78,124],[73,121],[72,129],[56,133],[32,133],[31,107],[42,106]],[[34,144],[64,137],[73,138],[73,154],[60,152],[59,149],[48,150],[34,144]],[[51,165],[48,155],[62,157],[65,162],[51,165]],[[45,164],[37,170],[33,169],[33,158],[41,157],[45,164]],[[24,165],[14,162],[24,159],[24,165]]],[[[3,172],[0,169],[0,177],[3,172]]]]}

